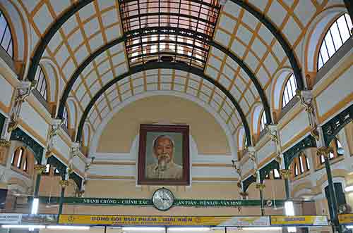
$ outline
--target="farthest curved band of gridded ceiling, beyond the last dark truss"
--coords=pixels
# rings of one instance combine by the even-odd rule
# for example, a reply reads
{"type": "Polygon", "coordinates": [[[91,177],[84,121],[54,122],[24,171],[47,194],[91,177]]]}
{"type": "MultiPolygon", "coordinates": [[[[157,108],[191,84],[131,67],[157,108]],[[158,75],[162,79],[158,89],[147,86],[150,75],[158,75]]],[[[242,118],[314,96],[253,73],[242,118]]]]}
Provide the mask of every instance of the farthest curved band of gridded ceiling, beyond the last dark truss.
{"type": "MultiPolygon", "coordinates": [[[[180,92],[201,99],[203,103],[214,108],[228,125],[231,132],[234,133],[240,122],[239,115],[232,101],[220,89],[215,89],[215,92],[213,92],[213,84],[207,80],[203,80],[198,75],[186,73],[181,70],[147,70],[128,76],[118,81],[117,85],[121,90],[120,95],[116,92],[114,85],[105,92],[112,103],[112,108],[118,106],[121,101],[126,101],[131,96],[136,96],[143,92],[180,92]]],[[[104,106],[104,101],[104,98],[101,96],[96,102],[97,106],[104,106]]],[[[105,118],[109,113],[105,109],[99,107],[97,109],[92,108],[90,111],[88,119],[92,122],[95,129],[101,122],[99,115],[101,115],[101,118],[105,118]]]]}

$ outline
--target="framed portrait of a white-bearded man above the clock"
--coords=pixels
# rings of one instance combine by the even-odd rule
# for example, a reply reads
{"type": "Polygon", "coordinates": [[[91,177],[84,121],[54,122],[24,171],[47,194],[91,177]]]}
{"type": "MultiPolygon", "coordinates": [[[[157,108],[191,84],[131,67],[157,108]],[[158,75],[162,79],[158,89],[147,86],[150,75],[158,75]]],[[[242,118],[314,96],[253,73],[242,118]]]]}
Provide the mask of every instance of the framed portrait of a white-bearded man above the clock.
{"type": "Polygon", "coordinates": [[[189,185],[189,125],[140,125],[138,184],[189,185]]]}

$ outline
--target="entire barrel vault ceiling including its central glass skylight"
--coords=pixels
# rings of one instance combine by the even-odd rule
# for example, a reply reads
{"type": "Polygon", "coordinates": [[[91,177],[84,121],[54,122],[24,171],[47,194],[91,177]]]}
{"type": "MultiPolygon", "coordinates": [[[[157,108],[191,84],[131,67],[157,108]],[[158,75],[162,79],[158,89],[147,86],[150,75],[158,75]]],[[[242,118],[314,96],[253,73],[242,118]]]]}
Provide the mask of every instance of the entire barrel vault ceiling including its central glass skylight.
{"type": "Polygon", "coordinates": [[[20,4],[32,27],[32,56],[41,39],[62,23],[44,46],[42,58],[52,60],[59,72],[59,96],[66,94],[76,102],[78,121],[87,116],[83,122],[92,130],[131,96],[169,91],[201,99],[232,134],[244,125],[241,114],[250,124],[253,106],[268,105],[271,82],[280,68],[300,70],[310,20],[332,4],[344,5],[317,0],[228,0],[225,6],[217,0],[20,4]],[[294,57],[254,11],[274,26],[294,57]]]}

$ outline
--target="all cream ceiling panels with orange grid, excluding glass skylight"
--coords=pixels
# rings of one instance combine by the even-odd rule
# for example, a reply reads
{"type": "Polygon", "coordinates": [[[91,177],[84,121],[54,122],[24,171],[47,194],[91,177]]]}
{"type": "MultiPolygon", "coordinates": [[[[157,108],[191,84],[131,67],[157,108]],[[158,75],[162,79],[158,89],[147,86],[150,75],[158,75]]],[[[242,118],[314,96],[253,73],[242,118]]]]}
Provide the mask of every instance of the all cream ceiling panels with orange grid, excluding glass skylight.
{"type": "MultiPolygon", "coordinates": [[[[270,100],[270,84],[274,74],[282,67],[290,67],[289,59],[265,25],[232,1],[227,1],[226,6],[222,6],[213,38],[215,42],[222,44],[244,61],[270,100]]],[[[319,3],[315,0],[306,1],[306,4],[299,0],[246,2],[273,22],[292,46],[297,58],[301,58],[301,43],[308,23],[314,15],[332,4],[329,1],[319,3]]],[[[35,49],[35,44],[39,44],[39,39],[44,36],[52,22],[77,3],[78,0],[21,1],[33,30],[32,49],[35,49]]],[[[169,19],[168,22],[172,21],[169,19]]],[[[44,56],[52,58],[59,67],[61,76],[59,89],[64,89],[71,75],[85,58],[112,40],[122,37],[121,28],[118,0],[92,1],[69,18],[56,32],[44,52],[44,56]]],[[[251,109],[254,104],[261,101],[255,85],[232,58],[213,46],[210,46],[209,51],[205,60],[205,75],[217,80],[234,96],[247,115],[248,122],[251,122],[249,119],[251,109]]],[[[114,77],[128,71],[127,57],[125,43],[121,42],[95,58],[79,75],[70,92],[71,99],[75,99],[78,104],[78,120],[92,96],[114,77]]],[[[156,80],[152,81],[152,71],[138,73],[140,77],[132,75],[110,87],[93,106],[88,121],[92,125],[99,125],[114,107],[126,101],[129,96],[141,92],[169,90],[201,99],[215,108],[233,134],[237,132],[237,128],[241,126],[239,115],[231,101],[215,85],[202,80],[201,77],[194,77],[195,75],[188,73],[180,75],[178,73],[182,72],[179,70],[172,70],[172,74],[169,75],[165,70],[157,70],[156,80]],[[184,83],[180,83],[181,80],[184,80],[184,83]]]]}

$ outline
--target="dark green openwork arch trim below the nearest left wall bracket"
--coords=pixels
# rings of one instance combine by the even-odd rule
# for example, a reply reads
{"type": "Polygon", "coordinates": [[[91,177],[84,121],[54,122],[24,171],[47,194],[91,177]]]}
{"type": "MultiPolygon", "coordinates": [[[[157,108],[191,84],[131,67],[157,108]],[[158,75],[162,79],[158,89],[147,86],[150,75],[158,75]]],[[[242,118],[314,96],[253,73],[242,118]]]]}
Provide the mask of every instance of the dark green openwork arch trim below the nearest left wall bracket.
{"type": "Polygon", "coordinates": [[[23,130],[21,130],[19,127],[17,127],[15,130],[11,132],[10,140],[22,141],[23,144],[25,144],[32,150],[35,156],[35,160],[37,160],[39,164],[42,163],[42,156],[44,151],[43,147],[40,146],[40,144],[38,144],[37,141],[32,139],[32,137],[30,137],[28,134],[23,132],[23,130]]]}

